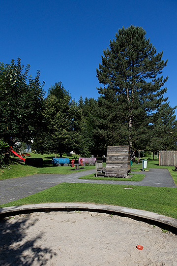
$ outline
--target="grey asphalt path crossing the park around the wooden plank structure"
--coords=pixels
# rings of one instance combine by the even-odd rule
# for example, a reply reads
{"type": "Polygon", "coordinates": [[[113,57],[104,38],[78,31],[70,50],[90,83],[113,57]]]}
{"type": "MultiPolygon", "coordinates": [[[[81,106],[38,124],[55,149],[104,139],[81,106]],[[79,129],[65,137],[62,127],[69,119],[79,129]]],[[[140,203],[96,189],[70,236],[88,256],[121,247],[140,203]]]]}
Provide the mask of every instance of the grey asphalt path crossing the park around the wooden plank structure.
{"type": "Polygon", "coordinates": [[[25,177],[0,180],[0,204],[25,198],[63,182],[177,188],[170,172],[166,168],[151,168],[148,172],[137,172],[146,174],[145,178],[139,182],[118,181],[118,179],[115,181],[79,179],[81,176],[94,172],[95,169],[91,169],[77,173],[73,172],[71,174],[35,174],[25,177]]]}

